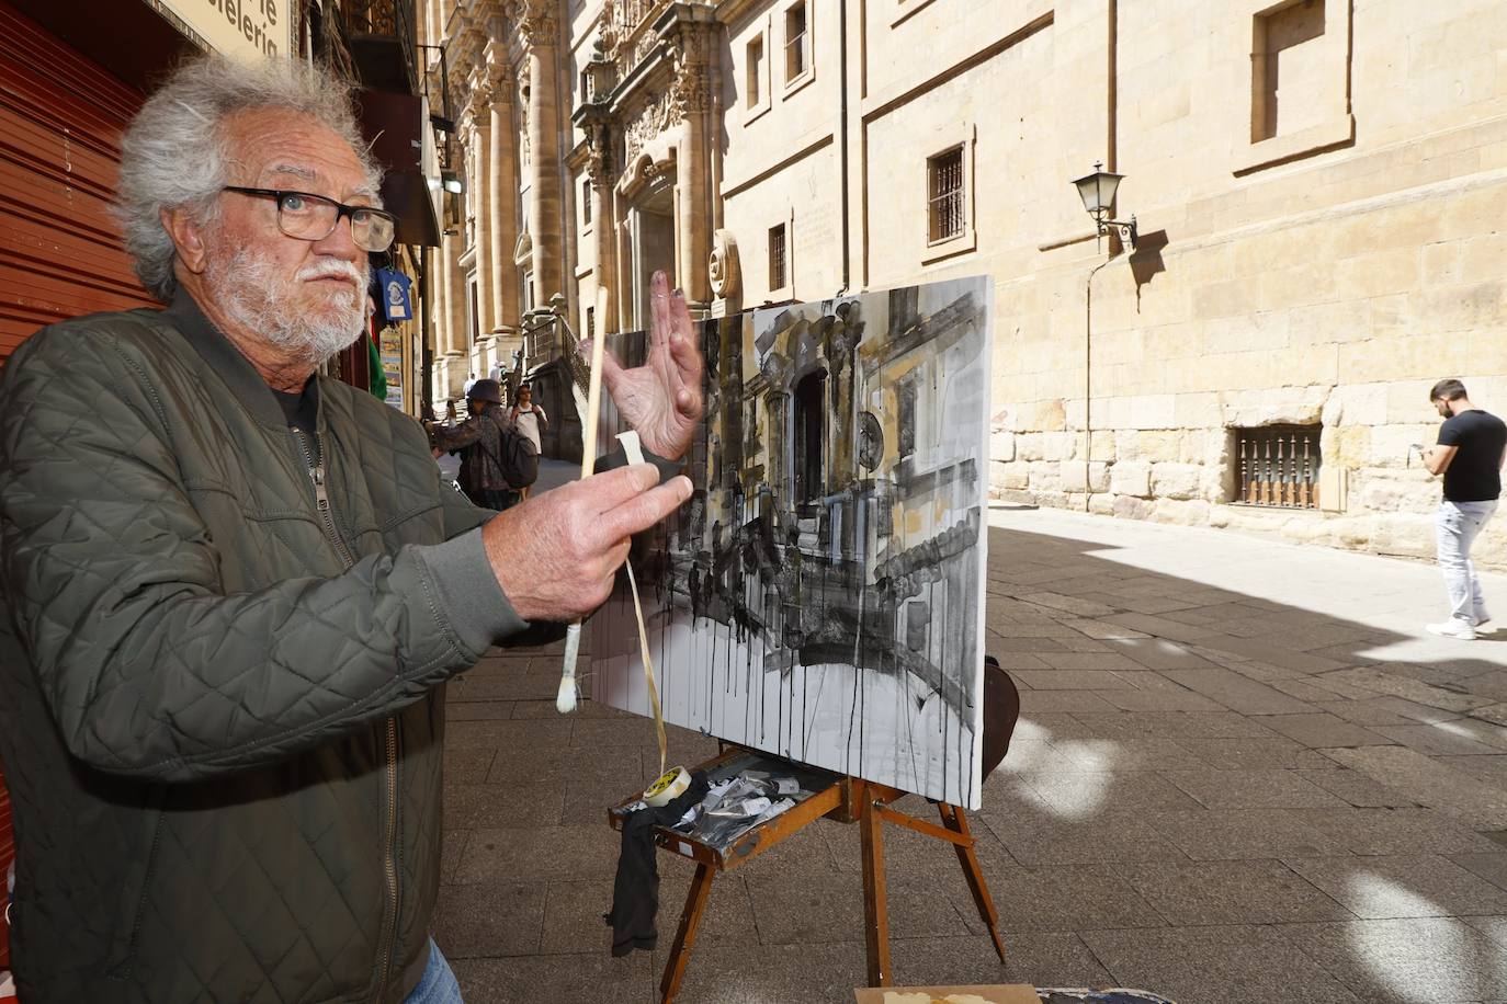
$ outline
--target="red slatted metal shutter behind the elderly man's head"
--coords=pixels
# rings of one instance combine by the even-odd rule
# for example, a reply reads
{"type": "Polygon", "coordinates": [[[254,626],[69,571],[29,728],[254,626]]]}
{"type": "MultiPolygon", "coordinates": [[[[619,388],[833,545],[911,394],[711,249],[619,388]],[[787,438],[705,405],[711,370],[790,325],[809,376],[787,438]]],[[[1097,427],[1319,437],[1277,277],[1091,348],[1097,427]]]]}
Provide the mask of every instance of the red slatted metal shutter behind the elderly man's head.
{"type": "Polygon", "coordinates": [[[42,325],[152,304],[110,218],[142,95],[0,0],[0,364],[42,325]]]}

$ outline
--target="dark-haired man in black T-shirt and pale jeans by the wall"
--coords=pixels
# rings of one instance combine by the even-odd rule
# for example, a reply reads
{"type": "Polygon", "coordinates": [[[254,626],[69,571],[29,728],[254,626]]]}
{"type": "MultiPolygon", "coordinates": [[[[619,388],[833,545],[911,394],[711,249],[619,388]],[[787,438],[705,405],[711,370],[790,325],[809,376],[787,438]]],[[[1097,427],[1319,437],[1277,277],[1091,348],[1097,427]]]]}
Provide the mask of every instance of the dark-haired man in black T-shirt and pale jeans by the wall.
{"type": "Polygon", "coordinates": [[[1471,545],[1496,512],[1502,494],[1507,424],[1472,405],[1465,396],[1465,384],[1457,379],[1441,379],[1429,391],[1429,400],[1444,417],[1439,443],[1423,452],[1423,464],[1430,474],[1444,474],[1436,525],[1439,567],[1450,593],[1450,619],[1429,625],[1429,631],[1471,641],[1475,629],[1490,620],[1481,581],[1471,563],[1471,545]]]}

